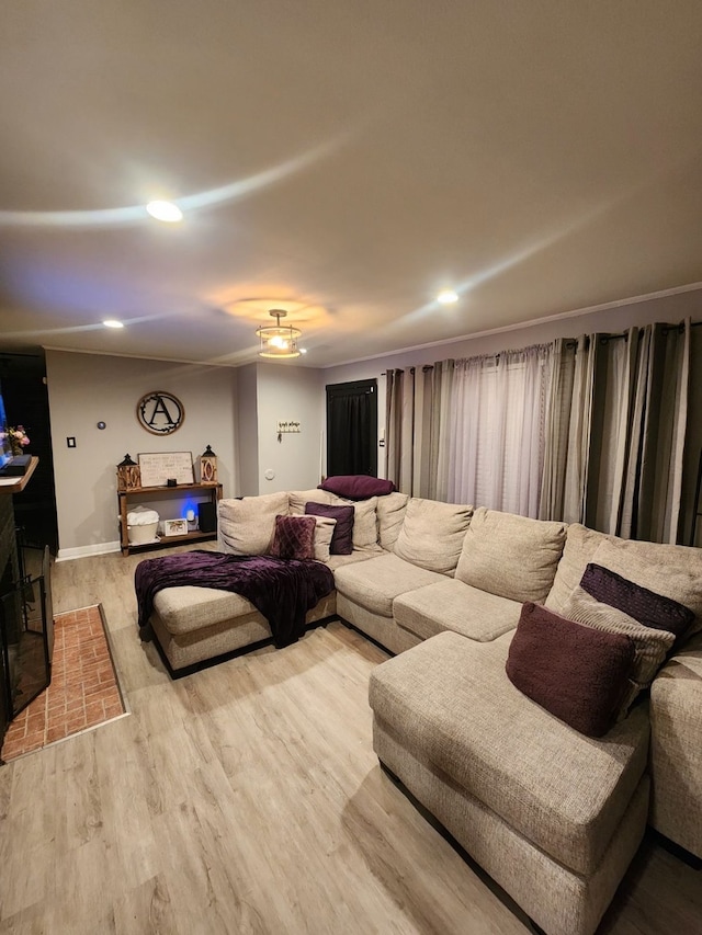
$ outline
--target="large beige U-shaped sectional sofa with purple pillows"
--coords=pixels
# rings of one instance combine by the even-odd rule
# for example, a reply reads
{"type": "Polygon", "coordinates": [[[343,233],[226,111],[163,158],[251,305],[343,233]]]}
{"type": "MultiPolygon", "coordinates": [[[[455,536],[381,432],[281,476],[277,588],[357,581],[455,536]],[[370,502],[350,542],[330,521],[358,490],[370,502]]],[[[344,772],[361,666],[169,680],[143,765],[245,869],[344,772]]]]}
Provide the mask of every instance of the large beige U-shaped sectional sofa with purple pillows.
{"type": "MultiPolygon", "coordinates": [[[[223,501],[220,548],[250,547],[247,524],[270,539],[276,513],[309,501],[348,502],[321,490],[223,501]]],[[[647,821],[702,857],[702,636],[601,738],[506,674],[524,602],[567,609],[598,555],[702,626],[702,550],[400,493],[354,509],[353,552],[329,560],[336,595],[308,619],[336,614],[396,653],[371,677],[378,759],[529,916],[548,935],[591,935],[647,821]]],[[[247,601],[208,589],[160,592],[151,623],[173,669],[270,635],[247,601]]]]}

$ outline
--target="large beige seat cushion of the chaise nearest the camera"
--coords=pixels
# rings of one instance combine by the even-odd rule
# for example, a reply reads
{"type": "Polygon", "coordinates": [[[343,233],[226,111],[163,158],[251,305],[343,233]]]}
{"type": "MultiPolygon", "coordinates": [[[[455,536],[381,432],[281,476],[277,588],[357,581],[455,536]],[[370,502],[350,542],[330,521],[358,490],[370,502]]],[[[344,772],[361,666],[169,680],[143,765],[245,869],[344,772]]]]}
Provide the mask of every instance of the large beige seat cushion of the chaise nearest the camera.
{"type": "Polygon", "coordinates": [[[371,674],[375,717],[412,753],[578,874],[591,874],[646,767],[639,706],[585,737],[507,677],[507,641],[443,632],[371,674]]]}

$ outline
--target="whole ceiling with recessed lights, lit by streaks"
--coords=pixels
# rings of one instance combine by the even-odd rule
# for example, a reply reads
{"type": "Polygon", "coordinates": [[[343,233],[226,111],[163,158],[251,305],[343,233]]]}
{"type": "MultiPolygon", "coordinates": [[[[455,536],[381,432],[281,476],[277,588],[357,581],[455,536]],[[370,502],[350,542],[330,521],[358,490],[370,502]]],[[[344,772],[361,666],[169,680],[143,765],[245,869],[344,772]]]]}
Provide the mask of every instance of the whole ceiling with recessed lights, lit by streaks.
{"type": "Polygon", "coordinates": [[[5,0],[0,343],[240,364],[275,299],[328,366],[698,283],[701,36],[700,0],[5,0]]]}

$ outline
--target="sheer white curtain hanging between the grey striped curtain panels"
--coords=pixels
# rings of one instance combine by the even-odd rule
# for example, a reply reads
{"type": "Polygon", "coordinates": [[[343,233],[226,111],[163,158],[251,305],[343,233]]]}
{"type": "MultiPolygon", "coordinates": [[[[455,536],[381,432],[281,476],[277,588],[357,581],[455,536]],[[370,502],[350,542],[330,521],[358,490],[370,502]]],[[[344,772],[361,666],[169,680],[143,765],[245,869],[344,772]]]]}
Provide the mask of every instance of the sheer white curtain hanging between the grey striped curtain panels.
{"type": "Polygon", "coordinates": [[[455,365],[446,498],[539,515],[553,344],[455,365]]]}

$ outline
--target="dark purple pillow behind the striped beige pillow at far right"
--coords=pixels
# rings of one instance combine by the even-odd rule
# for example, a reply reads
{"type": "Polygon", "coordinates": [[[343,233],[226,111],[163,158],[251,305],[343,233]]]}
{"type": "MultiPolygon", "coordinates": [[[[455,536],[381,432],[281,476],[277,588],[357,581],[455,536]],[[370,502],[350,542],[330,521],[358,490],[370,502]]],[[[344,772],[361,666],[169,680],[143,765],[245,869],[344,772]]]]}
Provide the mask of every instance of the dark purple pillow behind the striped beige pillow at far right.
{"type": "Polygon", "coordinates": [[[580,588],[596,601],[615,607],[643,626],[668,630],[677,637],[682,636],[694,620],[694,613],[689,607],[648,591],[601,565],[587,566],[580,588]]]}

